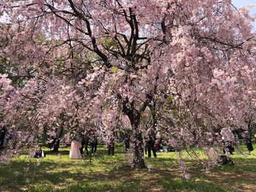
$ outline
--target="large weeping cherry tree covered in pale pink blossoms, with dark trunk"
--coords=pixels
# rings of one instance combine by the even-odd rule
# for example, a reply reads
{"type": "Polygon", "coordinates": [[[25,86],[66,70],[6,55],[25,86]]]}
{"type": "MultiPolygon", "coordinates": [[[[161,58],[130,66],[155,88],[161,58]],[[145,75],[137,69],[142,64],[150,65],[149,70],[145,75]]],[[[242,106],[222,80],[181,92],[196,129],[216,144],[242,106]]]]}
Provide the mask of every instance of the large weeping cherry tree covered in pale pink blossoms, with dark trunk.
{"type": "Polygon", "coordinates": [[[208,152],[220,128],[245,127],[254,114],[253,18],[230,0],[0,4],[10,23],[0,29],[1,65],[11,66],[1,124],[33,131],[26,140],[59,122],[70,130],[93,120],[111,133],[125,115],[132,166],[143,168],[146,109],[174,145],[208,152]]]}

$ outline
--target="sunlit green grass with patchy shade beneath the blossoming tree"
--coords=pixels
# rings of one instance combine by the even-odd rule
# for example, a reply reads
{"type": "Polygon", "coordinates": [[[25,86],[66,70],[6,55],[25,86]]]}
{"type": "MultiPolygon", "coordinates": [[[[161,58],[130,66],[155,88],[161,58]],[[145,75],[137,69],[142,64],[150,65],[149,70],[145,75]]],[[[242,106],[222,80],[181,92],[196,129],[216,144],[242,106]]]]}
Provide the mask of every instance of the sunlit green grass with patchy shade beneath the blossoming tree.
{"type": "Polygon", "coordinates": [[[89,158],[69,159],[68,148],[60,152],[61,158],[46,153],[39,166],[37,159],[29,161],[27,155],[1,164],[0,191],[256,191],[256,150],[246,157],[235,153],[235,166],[217,166],[208,174],[189,160],[189,182],[181,176],[176,152],[146,158],[146,164],[152,166],[150,172],[131,169],[121,147],[114,156],[99,147],[91,163],[89,158]]]}

